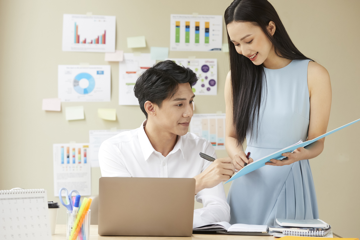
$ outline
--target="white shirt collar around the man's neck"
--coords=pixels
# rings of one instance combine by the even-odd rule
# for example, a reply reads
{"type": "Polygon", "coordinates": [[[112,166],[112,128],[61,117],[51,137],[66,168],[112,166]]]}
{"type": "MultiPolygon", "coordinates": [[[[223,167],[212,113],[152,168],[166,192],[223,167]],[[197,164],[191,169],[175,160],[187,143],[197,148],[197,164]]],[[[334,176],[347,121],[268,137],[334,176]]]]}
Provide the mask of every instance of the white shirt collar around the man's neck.
{"type": "MultiPolygon", "coordinates": [[[[151,142],[150,142],[148,136],[145,133],[144,126],[146,125],[147,121],[148,121],[148,119],[145,119],[144,122],[141,123],[139,132],[138,132],[139,143],[140,143],[141,150],[143,151],[145,161],[148,160],[150,155],[155,151],[155,149],[151,145],[151,142]]],[[[181,151],[181,154],[182,154],[183,158],[185,159],[184,151],[183,151],[183,137],[182,136],[178,137],[177,142],[174,146],[174,149],[172,149],[170,151],[169,155],[176,153],[176,151],[178,151],[178,150],[181,151]]]]}

